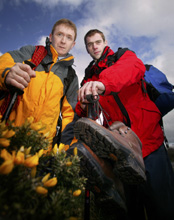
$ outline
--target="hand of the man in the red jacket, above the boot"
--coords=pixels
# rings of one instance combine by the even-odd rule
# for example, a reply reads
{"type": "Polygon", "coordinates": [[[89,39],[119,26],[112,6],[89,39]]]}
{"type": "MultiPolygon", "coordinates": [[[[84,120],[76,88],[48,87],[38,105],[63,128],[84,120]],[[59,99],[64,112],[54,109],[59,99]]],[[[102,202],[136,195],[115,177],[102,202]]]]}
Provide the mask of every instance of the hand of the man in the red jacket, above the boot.
{"type": "Polygon", "coordinates": [[[105,91],[105,86],[102,82],[90,81],[85,83],[78,92],[78,100],[82,103],[88,103],[86,95],[92,94],[95,98],[97,95],[102,94],[105,91]]]}

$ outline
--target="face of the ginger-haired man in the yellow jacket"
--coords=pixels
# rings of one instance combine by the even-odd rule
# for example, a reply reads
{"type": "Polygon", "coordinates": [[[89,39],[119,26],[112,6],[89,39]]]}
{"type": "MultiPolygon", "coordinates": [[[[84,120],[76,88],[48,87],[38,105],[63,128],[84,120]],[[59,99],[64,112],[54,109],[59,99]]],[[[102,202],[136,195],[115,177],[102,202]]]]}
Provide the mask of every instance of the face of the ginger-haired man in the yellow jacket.
{"type": "Polygon", "coordinates": [[[74,39],[74,30],[64,24],[56,26],[54,33],[50,34],[50,42],[52,42],[53,47],[61,57],[65,57],[74,47],[74,39]]]}

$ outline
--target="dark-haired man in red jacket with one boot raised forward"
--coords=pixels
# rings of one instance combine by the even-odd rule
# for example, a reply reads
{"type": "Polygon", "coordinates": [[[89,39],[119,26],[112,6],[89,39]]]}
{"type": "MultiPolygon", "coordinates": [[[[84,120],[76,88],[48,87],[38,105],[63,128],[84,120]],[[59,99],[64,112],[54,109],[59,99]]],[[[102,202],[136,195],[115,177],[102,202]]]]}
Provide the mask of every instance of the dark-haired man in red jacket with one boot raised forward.
{"type": "MultiPolygon", "coordinates": [[[[87,95],[92,94],[93,101],[99,95],[104,127],[93,120],[81,118],[75,125],[76,137],[85,142],[99,158],[110,161],[115,176],[118,174],[124,182],[126,168],[130,170],[134,162],[135,167],[142,165],[138,150],[134,148],[131,151],[126,144],[124,145],[124,141],[120,142],[117,137],[118,134],[125,136],[131,127],[132,133],[136,134],[142,143],[147,181],[145,184],[131,186],[131,174],[128,172],[130,184],[126,181],[124,189],[129,217],[136,219],[139,212],[137,207],[140,207],[140,201],[143,201],[148,219],[174,219],[174,174],[163,144],[164,135],[159,123],[161,113],[142,90],[144,64],[127,48],[119,48],[113,56],[114,52],[107,46],[103,33],[97,29],[90,30],[85,35],[85,45],[93,61],[86,68],[76,112],[80,117],[87,116],[87,95]],[[121,110],[120,101],[126,109],[127,116],[121,110]],[[123,122],[128,127],[123,124],[116,126],[117,135],[114,135],[112,130],[116,121],[123,122]],[[127,148],[127,153],[126,150],[120,153],[124,147],[127,148]],[[123,163],[120,165],[121,161],[125,162],[125,167],[123,163]],[[134,203],[136,200],[138,202],[134,203]]],[[[131,171],[132,176],[136,179],[137,174],[138,179],[136,168],[132,168],[131,171]]],[[[143,217],[139,216],[139,219],[143,217]]]]}

